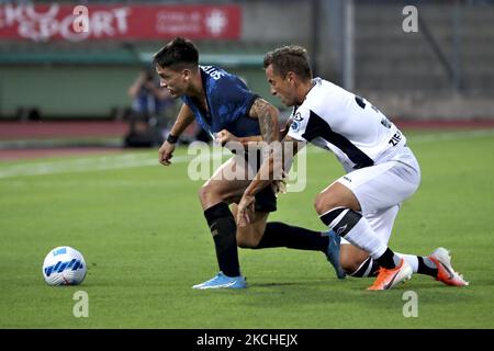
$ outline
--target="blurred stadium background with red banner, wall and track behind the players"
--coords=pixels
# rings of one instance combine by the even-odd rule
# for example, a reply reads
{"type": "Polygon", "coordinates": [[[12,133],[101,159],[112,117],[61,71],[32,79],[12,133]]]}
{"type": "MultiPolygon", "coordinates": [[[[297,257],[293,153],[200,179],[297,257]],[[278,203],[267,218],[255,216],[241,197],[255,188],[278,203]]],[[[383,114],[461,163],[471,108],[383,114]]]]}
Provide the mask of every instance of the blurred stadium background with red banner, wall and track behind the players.
{"type": "MultiPolygon", "coordinates": [[[[1,158],[25,148],[123,146],[127,89],[176,35],[195,41],[202,64],[238,73],[282,110],[269,95],[262,56],[302,44],[316,75],[398,124],[494,123],[494,1],[0,1],[1,158]],[[89,33],[71,29],[78,4],[89,10],[89,33]],[[405,33],[409,4],[418,32],[405,33]]],[[[161,134],[173,116],[161,116],[161,134]]]]}

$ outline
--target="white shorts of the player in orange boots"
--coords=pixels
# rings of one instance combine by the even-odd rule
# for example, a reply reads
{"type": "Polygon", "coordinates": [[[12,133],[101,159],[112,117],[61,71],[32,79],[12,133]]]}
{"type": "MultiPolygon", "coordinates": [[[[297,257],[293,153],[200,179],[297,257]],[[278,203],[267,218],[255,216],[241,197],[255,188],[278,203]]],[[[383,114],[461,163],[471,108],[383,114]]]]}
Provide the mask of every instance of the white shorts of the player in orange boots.
{"type": "MultiPolygon", "coordinates": [[[[401,203],[418,189],[420,168],[412,150],[404,147],[391,160],[358,169],[336,182],[351,190],[360,203],[362,216],[388,244],[401,203]]],[[[341,244],[349,242],[343,238],[341,244]]]]}

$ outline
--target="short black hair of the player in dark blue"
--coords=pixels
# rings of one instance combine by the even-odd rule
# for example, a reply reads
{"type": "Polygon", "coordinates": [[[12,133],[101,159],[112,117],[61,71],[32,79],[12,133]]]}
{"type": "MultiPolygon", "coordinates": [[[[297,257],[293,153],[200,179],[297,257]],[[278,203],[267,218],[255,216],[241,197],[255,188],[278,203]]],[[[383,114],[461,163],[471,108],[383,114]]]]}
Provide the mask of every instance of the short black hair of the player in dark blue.
{"type": "Polygon", "coordinates": [[[153,64],[173,70],[197,67],[199,52],[190,39],[178,36],[153,56],[153,64]]]}

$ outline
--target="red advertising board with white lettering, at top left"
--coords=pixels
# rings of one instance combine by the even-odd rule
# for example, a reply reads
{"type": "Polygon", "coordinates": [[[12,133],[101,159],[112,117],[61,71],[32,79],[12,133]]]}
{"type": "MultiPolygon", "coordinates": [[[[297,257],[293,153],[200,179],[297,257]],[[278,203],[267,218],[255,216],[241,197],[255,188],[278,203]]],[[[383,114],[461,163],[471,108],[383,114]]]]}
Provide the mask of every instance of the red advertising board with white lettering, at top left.
{"type": "Polygon", "coordinates": [[[0,5],[0,39],[236,39],[238,5],[0,5]],[[82,11],[80,11],[82,9],[82,11]],[[76,10],[76,11],[75,11],[76,10]]]}

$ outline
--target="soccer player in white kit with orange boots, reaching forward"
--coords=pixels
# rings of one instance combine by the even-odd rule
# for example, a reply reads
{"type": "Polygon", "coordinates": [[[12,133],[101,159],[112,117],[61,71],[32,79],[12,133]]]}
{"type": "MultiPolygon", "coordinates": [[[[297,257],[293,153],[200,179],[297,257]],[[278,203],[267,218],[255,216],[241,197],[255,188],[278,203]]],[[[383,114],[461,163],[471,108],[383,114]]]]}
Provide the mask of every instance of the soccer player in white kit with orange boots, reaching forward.
{"type": "MultiPolygon", "coordinates": [[[[321,220],[341,238],[339,259],[347,274],[377,275],[368,290],[392,288],[414,272],[447,285],[468,285],[444,248],[419,257],[395,253],[388,247],[401,203],[420,183],[418,162],[396,126],[367,100],[313,78],[301,46],[268,53],[265,70],[271,93],[293,106],[293,122],[280,150],[291,145],[295,155],[312,143],[335,154],[347,172],[315,199],[321,220]]],[[[290,158],[287,152],[283,156],[290,158]]],[[[254,195],[272,183],[277,157],[281,155],[273,151],[246,189],[238,205],[239,226],[249,220],[254,195]]]]}

